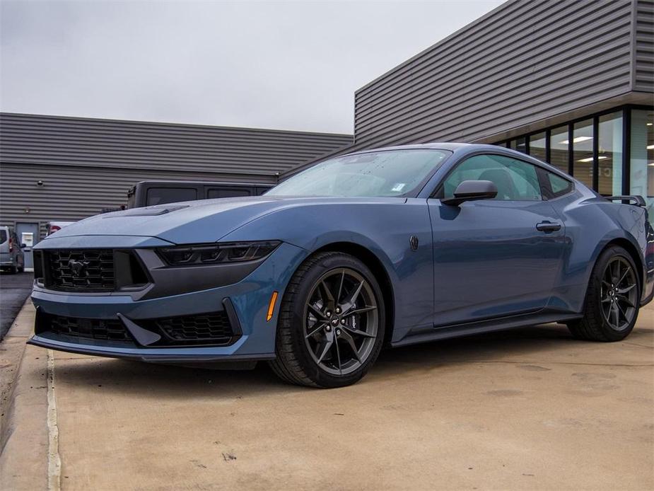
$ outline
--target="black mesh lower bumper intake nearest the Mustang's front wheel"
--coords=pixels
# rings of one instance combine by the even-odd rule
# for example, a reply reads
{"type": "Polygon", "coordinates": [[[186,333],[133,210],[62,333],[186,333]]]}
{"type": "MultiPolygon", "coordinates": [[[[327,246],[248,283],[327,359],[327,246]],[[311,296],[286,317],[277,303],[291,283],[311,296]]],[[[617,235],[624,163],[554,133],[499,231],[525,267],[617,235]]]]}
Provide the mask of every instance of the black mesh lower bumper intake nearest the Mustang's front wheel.
{"type": "Polygon", "coordinates": [[[225,345],[234,337],[225,312],[159,318],[150,322],[168,338],[169,344],[225,345]]]}

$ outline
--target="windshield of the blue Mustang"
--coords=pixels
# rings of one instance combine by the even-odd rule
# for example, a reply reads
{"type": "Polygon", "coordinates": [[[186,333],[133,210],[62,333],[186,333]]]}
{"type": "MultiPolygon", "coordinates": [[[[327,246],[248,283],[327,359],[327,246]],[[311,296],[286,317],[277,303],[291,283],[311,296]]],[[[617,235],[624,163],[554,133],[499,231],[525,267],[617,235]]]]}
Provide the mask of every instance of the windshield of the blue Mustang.
{"type": "Polygon", "coordinates": [[[450,151],[385,150],[330,158],[269,190],[267,196],[393,197],[417,192],[450,151]]]}

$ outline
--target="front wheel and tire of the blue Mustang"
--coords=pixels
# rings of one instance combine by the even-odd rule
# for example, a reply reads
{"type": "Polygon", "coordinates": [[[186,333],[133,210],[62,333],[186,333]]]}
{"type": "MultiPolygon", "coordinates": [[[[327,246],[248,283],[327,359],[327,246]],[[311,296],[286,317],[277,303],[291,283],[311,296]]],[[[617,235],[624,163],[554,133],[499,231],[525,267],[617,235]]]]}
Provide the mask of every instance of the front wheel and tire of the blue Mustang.
{"type": "Polygon", "coordinates": [[[300,265],[286,288],[276,359],[269,364],[282,380],[301,386],[356,383],[382,348],[384,314],[382,291],[363,262],[344,253],[318,253],[300,265]]]}

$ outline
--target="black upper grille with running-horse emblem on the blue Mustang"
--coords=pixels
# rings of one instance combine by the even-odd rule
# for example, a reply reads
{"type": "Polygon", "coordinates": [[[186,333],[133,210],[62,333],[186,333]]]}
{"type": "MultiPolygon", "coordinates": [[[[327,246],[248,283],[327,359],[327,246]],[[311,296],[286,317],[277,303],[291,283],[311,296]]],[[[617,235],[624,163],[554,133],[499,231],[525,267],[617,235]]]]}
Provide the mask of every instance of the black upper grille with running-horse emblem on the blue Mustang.
{"type": "Polygon", "coordinates": [[[115,287],[112,250],[47,251],[48,284],[66,291],[111,291],[115,287]]]}

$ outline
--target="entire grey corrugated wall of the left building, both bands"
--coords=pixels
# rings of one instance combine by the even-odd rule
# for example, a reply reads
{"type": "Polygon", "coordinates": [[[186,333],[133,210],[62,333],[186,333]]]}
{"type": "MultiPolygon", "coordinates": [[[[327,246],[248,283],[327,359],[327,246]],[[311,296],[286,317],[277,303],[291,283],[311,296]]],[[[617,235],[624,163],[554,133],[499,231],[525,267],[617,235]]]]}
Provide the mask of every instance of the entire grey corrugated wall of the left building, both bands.
{"type": "Polygon", "coordinates": [[[45,233],[47,221],[126,204],[140,180],[274,184],[276,173],[351,141],[342,134],[0,113],[0,223],[39,222],[45,233]]]}

